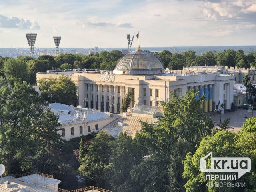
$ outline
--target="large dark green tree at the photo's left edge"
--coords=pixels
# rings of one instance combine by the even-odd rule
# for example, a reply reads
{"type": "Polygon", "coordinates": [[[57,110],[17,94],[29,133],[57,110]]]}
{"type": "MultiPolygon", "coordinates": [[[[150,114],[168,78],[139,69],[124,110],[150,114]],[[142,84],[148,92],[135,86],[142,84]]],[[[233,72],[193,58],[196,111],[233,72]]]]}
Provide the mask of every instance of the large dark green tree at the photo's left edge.
{"type": "Polygon", "coordinates": [[[26,82],[10,84],[3,78],[0,78],[0,97],[0,161],[7,172],[28,170],[38,146],[38,130],[32,120],[42,118],[43,102],[26,82]]]}

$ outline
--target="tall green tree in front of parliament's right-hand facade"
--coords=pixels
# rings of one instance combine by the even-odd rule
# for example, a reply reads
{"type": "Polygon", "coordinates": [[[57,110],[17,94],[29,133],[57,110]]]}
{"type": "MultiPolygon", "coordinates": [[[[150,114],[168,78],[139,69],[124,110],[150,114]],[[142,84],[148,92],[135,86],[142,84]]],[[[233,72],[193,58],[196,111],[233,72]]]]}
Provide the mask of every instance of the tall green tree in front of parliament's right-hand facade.
{"type": "Polygon", "coordinates": [[[178,98],[171,92],[170,100],[161,104],[164,111],[158,123],[142,122],[141,137],[149,158],[130,172],[138,189],[144,190],[144,185],[144,191],[184,190],[182,160],[188,152],[196,150],[202,138],[214,133],[210,116],[200,108],[205,97],[196,100],[196,94],[186,92],[184,97],[178,98]]]}

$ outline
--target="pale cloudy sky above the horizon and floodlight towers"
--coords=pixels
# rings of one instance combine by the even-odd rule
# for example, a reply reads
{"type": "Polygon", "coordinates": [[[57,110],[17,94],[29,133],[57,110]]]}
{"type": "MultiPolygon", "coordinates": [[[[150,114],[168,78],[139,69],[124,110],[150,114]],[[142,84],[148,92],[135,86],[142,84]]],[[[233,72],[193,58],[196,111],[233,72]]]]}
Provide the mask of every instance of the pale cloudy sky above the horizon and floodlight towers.
{"type": "Polygon", "coordinates": [[[0,0],[0,47],[256,45],[256,0],[0,0]]]}

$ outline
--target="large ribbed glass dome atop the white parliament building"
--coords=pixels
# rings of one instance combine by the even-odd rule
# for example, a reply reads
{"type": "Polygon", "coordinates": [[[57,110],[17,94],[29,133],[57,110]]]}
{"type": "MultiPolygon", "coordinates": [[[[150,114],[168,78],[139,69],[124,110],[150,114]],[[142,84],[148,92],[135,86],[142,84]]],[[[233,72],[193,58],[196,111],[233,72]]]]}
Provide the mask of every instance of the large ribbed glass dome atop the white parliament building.
{"type": "Polygon", "coordinates": [[[149,52],[136,50],[126,54],[116,65],[114,74],[162,74],[165,73],[160,60],[149,52]]]}

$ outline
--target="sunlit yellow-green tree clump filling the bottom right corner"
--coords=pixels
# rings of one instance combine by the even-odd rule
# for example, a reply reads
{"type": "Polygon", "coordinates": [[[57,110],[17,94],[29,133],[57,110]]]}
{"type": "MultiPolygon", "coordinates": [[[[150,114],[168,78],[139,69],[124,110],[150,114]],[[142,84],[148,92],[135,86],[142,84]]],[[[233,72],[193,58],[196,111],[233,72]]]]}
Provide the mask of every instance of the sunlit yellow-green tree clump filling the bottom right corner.
{"type": "MultiPolygon", "coordinates": [[[[237,133],[222,130],[214,136],[206,137],[198,146],[196,152],[188,153],[183,162],[183,176],[188,179],[185,185],[186,192],[253,192],[256,190],[256,118],[252,117],[246,120],[242,129],[237,133]],[[209,152],[213,152],[214,157],[248,157],[251,159],[252,168],[250,172],[244,174],[237,180],[230,180],[232,184],[245,182],[244,187],[220,187],[216,188],[206,183],[227,182],[226,180],[206,180],[205,172],[199,169],[200,158],[206,156],[209,152]]],[[[216,173],[218,174],[218,173],[216,173]]],[[[222,173],[220,173],[222,174],[222,173]]],[[[225,173],[228,174],[228,173],[225,173]]],[[[232,174],[232,173],[231,173],[232,174]]]]}

